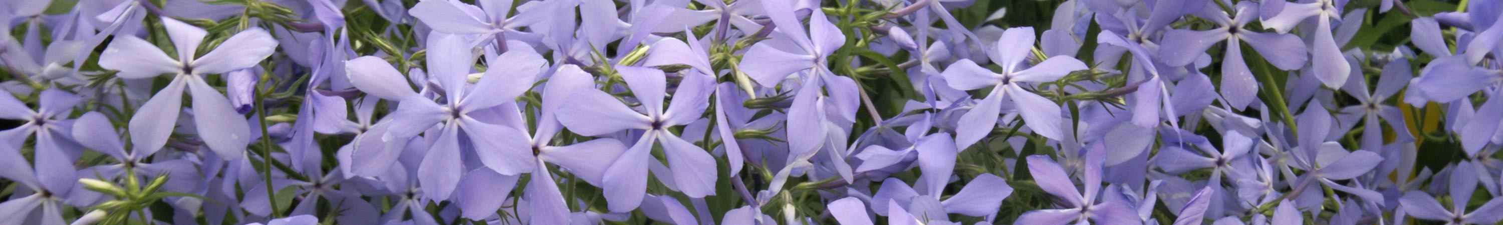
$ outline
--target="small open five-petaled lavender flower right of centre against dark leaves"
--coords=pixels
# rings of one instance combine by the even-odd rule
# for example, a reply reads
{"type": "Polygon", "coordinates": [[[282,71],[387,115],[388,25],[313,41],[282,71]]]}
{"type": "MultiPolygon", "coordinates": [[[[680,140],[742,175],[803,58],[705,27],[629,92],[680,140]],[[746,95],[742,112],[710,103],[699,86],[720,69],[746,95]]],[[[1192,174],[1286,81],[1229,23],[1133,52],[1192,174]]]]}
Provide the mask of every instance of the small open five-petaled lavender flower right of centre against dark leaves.
{"type": "Polygon", "coordinates": [[[1085,63],[1070,56],[1054,56],[1030,68],[1024,62],[1028,60],[1033,44],[1033,27],[1009,28],[996,40],[996,52],[987,54],[992,56],[992,62],[1003,68],[1001,72],[992,72],[962,58],[941,74],[950,81],[950,87],[959,90],[992,87],[992,92],[981,102],[977,102],[969,112],[960,117],[956,146],[969,147],[986,138],[992,128],[996,128],[996,117],[1003,110],[1004,99],[1013,102],[1010,108],[1016,108],[1022,114],[1024,122],[1034,134],[1049,140],[1061,140],[1060,105],[1024,90],[1021,82],[1051,82],[1087,68],[1085,63]]]}

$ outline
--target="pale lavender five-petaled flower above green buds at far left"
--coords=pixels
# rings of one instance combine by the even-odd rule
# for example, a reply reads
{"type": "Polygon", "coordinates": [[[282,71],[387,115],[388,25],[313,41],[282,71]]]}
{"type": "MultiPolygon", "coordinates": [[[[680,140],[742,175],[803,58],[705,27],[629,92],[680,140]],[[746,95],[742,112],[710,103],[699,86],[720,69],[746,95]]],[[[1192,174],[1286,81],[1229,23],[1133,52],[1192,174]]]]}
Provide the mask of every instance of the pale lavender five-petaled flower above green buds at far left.
{"type": "Polygon", "coordinates": [[[156,45],[135,36],[117,36],[99,54],[99,66],[120,70],[117,74],[120,78],[138,80],[173,74],[173,81],[131,117],[131,142],[147,154],[165,146],[182,111],[183,86],[188,86],[188,92],[194,96],[194,124],[198,136],[216,154],[239,159],[245,154],[245,144],[249,144],[249,124],[243,123],[245,117],[236,114],[228,99],[204,82],[203,76],[256,66],[277,50],[277,40],[266,30],[251,27],[230,36],[203,57],[194,58],[207,32],[173,18],[161,20],[177,50],[176,60],[156,50],[156,45]]]}

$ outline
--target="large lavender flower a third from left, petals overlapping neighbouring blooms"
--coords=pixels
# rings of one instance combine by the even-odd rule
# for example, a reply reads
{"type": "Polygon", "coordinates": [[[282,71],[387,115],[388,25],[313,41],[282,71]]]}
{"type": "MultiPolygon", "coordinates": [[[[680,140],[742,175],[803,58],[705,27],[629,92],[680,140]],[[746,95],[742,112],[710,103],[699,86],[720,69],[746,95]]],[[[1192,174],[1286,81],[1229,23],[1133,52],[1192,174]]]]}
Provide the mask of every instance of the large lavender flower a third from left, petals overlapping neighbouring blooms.
{"type": "MultiPolygon", "coordinates": [[[[528,146],[508,144],[513,141],[504,141],[504,138],[525,136],[481,138],[484,135],[502,134],[504,129],[510,128],[482,122],[482,117],[478,116],[485,114],[487,111],[484,110],[514,102],[516,96],[531,88],[535,76],[547,62],[531,51],[508,51],[496,58],[490,58],[488,64],[493,64],[493,68],[485,70],[485,75],[473,88],[469,88],[466,87],[466,80],[475,56],[464,39],[461,36],[436,33],[428,39],[428,70],[437,80],[439,86],[443,87],[445,105],[434,104],[433,99],[412,92],[401,81],[401,74],[397,74],[391,64],[386,64],[380,58],[361,57],[346,64],[350,69],[350,81],[356,88],[382,99],[400,99],[401,102],[397,112],[392,114],[395,120],[391,120],[389,128],[385,128],[385,134],[380,135],[383,142],[404,142],[419,132],[442,124],[442,129],[436,130],[437,134],[428,134],[430,136],[427,138],[436,138],[436,142],[430,146],[418,170],[421,174],[418,180],[422,183],[424,194],[431,200],[448,200],[449,194],[460,183],[460,177],[466,174],[461,164],[460,148],[463,147],[460,146],[460,132],[470,140],[469,142],[473,144],[475,156],[487,168],[502,176],[532,171],[535,164],[528,156],[531,154],[531,148],[528,146]]],[[[356,156],[361,154],[367,153],[358,153],[356,156]]],[[[361,164],[373,164],[376,168],[382,168],[382,165],[389,165],[392,160],[395,160],[395,154],[388,148],[376,153],[374,159],[361,164]]],[[[358,172],[380,172],[380,170],[358,170],[358,172]]]]}

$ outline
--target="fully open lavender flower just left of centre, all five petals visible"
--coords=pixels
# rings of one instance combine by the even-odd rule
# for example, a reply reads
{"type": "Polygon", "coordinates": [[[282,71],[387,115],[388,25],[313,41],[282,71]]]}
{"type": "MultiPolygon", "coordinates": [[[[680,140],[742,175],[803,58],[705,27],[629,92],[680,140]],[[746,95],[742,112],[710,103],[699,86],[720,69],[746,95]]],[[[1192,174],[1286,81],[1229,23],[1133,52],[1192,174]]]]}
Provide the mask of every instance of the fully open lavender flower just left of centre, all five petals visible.
{"type": "MultiPolygon", "coordinates": [[[[636,141],[616,162],[612,162],[603,177],[610,212],[628,212],[642,202],[646,194],[648,162],[654,144],[661,142],[667,154],[673,183],[690,198],[714,195],[715,160],[703,148],[669,132],[672,126],[688,124],[700,117],[708,106],[714,82],[708,75],[688,74],[673,93],[673,100],[663,110],[667,86],[663,70],[651,68],[616,66],[616,72],[631,87],[631,94],[642,104],[646,114],[637,112],[606,92],[580,90],[559,106],[558,120],[571,132],[598,136],[621,130],[642,130],[636,141]]],[[[667,176],[660,176],[667,177],[667,176]]]]}

